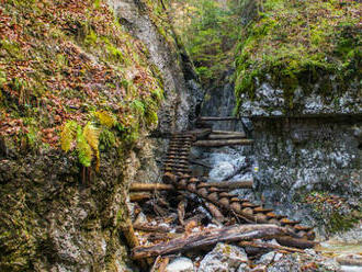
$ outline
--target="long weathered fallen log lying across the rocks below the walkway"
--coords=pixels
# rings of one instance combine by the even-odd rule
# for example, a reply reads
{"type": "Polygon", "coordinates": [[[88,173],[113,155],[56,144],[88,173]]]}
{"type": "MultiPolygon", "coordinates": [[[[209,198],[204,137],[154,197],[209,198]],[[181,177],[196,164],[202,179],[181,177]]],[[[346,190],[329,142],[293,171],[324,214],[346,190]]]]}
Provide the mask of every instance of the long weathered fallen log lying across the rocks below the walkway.
{"type": "Polygon", "coordinates": [[[274,225],[234,225],[220,229],[211,229],[186,237],[160,242],[150,247],[136,247],[133,249],[133,259],[139,260],[183,252],[200,247],[213,246],[217,242],[237,242],[252,239],[273,239],[285,235],[287,230],[274,225]]]}

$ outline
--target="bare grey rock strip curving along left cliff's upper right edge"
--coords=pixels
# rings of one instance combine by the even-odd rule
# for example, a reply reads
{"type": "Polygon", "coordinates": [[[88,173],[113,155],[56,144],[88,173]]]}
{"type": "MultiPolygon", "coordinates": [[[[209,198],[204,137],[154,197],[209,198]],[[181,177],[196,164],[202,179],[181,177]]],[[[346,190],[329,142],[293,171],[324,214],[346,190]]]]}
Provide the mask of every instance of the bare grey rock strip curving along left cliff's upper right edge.
{"type": "Polygon", "coordinates": [[[120,22],[145,43],[150,60],[162,75],[167,100],[159,112],[159,132],[188,128],[203,92],[167,18],[167,7],[161,1],[109,0],[109,3],[120,22]]]}

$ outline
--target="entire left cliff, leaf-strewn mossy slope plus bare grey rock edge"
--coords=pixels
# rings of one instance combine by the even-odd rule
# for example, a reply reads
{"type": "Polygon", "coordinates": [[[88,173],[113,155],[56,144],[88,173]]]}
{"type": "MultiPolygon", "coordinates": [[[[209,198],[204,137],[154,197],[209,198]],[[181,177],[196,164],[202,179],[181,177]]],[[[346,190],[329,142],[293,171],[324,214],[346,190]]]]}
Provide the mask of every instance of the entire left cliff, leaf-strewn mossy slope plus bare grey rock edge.
{"type": "Polygon", "coordinates": [[[158,177],[165,140],[147,136],[194,118],[191,61],[158,18],[161,1],[25,2],[0,8],[0,270],[134,271],[125,192],[158,177]],[[11,27],[12,14],[42,27],[11,27]],[[37,61],[14,66],[16,54],[37,61]],[[60,149],[69,120],[78,136],[89,122],[100,132],[99,171],[95,157],[82,165],[78,136],[72,151],[60,149]]]}

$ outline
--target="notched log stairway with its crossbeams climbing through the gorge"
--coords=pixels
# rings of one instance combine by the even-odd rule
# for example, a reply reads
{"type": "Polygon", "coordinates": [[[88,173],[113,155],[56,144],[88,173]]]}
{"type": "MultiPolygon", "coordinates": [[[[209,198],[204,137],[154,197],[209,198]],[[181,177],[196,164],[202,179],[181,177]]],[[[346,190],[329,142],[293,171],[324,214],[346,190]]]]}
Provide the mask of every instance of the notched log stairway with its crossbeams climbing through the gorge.
{"type": "MultiPolygon", "coordinates": [[[[252,181],[242,182],[207,182],[205,177],[194,177],[190,169],[190,149],[197,147],[219,147],[227,145],[252,145],[252,139],[247,139],[241,132],[212,131],[205,123],[210,121],[235,120],[234,117],[201,117],[199,126],[194,131],[173,133],[170,138],[168,154],[163,161],[163,183],[161,184],[133,184],[131,191],[181,191],[197,195],[210,213],[219,222],[225,222],[227,216],[234,217],[244,224],[262,224],[281,227],[287,234],[275,237],[278,242],[285,247],[298,249],[313,248],[316,242],[313,227],[299,225],[299,222],[291,220],[286,216],[275,214],[272,208],[253,204],[248,200],[241,200],[230,193],[235,189],[252,189],[252,181]]],[[[170,250],[162,252],[173,252],[174,247],[169,243],[162,247],[170,247],[170,250]]],[[[159,249],[156,246],[156,249],[159,249]]],[[[155,252],[157,250],[155,249],[155,252]]],[[[138,258],[149,257],[142,253],[143,249],[135,249],[134,253],[138,258]],[[138,251],[137,251],[138,250],[138,251]]],[[[148,251],[147,251],[148,252],[148,251]]],[[[159,253],[159,252],[158,252],[159,253]]],[[[158,253],[155,253],[157,256],[158,253]]]]}

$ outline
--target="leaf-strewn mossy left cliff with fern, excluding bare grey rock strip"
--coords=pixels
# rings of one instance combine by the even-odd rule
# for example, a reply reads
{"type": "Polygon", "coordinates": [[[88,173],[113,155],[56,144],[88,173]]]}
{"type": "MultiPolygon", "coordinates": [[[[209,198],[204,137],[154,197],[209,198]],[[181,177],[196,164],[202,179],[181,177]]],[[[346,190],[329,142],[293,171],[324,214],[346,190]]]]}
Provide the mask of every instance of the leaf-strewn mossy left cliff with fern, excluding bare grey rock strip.
{"type": "Polygon", "coordinates": [[[126,159],[163,99],[148,55],[106,1],[0,0],[1,271],[125,259],[126,159]]]}

